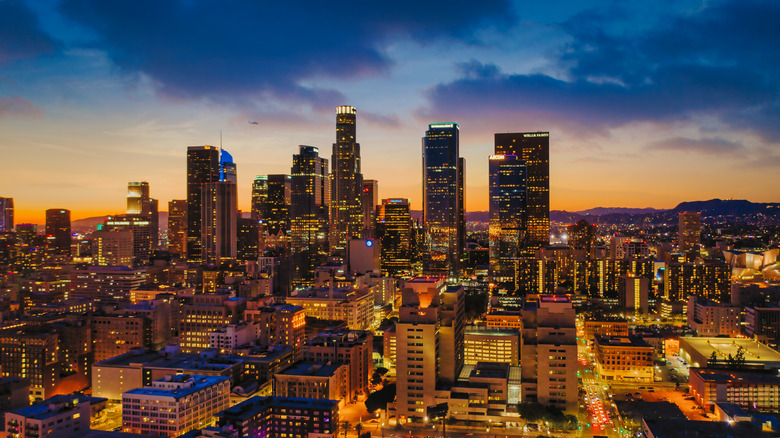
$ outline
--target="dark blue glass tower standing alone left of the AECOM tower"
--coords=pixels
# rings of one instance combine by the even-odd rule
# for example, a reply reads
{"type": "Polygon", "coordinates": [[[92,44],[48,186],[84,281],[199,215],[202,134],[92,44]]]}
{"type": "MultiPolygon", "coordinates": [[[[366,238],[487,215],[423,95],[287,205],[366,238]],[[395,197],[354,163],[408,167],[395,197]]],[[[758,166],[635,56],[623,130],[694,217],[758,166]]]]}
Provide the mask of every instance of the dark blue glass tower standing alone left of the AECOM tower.
{"type": "Polygon", "coordinates": [[[457,276],[465,241],[464,161],[458,156],[457,123],[428,125],[423,137],[423,269],[457,276]]]}

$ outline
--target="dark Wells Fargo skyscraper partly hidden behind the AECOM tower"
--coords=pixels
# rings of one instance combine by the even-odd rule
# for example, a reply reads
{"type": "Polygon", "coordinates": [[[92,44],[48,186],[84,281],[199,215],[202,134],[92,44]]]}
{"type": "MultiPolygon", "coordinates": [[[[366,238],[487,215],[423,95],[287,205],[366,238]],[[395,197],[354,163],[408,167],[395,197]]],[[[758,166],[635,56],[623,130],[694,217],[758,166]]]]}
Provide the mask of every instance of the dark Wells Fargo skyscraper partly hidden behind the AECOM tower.
{"type": "Polygon", "coordinates": [[[496,155],[517,155],[526,165],[525,242],[523,257],[550,244],[550,133],[514,132],[495,134],[496,155]]]}

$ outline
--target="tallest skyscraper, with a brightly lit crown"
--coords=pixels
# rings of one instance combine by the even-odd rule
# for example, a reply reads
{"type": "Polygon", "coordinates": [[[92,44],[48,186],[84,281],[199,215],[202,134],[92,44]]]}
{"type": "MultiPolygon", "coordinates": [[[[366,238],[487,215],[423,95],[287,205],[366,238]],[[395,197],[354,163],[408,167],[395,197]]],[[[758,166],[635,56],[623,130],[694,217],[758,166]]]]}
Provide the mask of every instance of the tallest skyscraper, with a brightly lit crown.
{"type": "Polygon", "coordinates": [[[336,108],[336,143],[331,161],[331,251],[344,254],[347,239],[360,237],[363,231],[360,173],[360,144],[355,142],[357,110],[352,106],[336,108]]]}

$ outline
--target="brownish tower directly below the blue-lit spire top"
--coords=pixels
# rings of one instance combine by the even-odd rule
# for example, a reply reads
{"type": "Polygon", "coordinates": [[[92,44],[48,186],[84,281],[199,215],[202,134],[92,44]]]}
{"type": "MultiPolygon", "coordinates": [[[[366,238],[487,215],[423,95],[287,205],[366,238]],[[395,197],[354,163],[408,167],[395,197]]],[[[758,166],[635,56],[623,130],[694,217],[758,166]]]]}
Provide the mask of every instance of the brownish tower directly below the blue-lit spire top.
{"type": "Polygon", "coordinates": [[[202,263],[220,264],[235,260],[238,236],[238,194],[235,183],[218,181],[201,184],[202,263]]]}

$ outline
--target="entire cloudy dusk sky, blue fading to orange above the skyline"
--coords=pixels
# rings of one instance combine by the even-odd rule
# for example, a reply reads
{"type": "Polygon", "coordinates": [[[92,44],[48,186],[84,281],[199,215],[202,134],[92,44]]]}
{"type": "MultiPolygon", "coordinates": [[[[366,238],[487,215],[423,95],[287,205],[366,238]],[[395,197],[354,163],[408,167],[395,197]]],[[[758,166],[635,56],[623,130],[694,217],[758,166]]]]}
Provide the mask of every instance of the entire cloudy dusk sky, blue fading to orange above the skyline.
{"type": "Polygon", "coordinates": [[[517,131],[550,132],[552,209],[776,202],[778,22],[752,0],[0,0],[0,196],[43,223],[149,181],[166,210],[222,129],[248,211],[298,145],[330,161],[352,105],[364,178],[413,209],[435,122],[460,125],[469,211],[517,131]]]}

